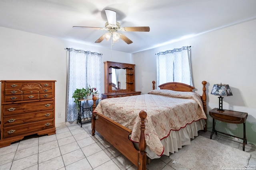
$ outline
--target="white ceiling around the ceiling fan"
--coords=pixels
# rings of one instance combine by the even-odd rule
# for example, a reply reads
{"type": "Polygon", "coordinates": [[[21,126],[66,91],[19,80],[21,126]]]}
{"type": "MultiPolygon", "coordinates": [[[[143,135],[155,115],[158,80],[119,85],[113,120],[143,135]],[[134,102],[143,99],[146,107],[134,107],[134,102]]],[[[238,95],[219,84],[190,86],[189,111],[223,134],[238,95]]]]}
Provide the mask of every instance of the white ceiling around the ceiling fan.
{"type": "Polygon", "coordinates": [[[112,49],[127,53],[256,19],[256,0],[0,0],[0,26],[110,49],[110,41],[94,43],[106,30],[72,28],[104,27],[105,9],[121,27],[150,27],[122,32],[133,43],[112,49]]]}

